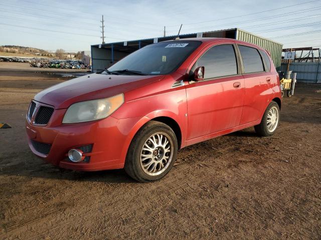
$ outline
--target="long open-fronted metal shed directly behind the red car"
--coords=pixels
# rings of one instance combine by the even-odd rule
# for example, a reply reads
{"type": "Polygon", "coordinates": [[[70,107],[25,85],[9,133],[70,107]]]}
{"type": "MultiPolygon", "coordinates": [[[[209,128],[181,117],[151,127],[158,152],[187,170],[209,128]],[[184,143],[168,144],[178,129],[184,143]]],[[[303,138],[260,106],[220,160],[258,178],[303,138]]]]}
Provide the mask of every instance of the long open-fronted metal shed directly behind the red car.
{"type": "MultiPolygon", "coordinates": [[[[92,71],[96,72],[103,70],[143,46],[155,42],[172,40],[174,37],[175,35],[91,45],[92,71]]],[[[281,43],[254,35],[239,28],[180,35],[180,38],[189,37],[226,37],[254,43],[271,53],[272,60],[277,70],[281,65],[281,43]]]]}

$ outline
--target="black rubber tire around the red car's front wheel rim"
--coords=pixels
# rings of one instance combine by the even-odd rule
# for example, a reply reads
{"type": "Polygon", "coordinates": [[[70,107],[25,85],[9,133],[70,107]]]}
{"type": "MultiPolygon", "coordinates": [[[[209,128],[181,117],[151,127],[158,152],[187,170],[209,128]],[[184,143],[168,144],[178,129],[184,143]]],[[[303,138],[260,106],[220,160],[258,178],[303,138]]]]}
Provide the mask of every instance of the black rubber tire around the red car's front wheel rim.
{"type": "Polygon", "coordinates": [[[171,170],[177,157],[177,151],[178,142],[173,129],[163,122],[151,120],[144,126],[142,126],[142,128],[139,129],[139,131],[133,137],[127,151],[124,169],[129,176],[140,182],[159,180],[171,170]],[[169,140],[169,144],[171,147],[171,156],[169,158],[171,160],[168,160],[168,163],[166,163],[166,169],[163,172],[159,174],[157,173],[158,175],[150,175],[152,173],[147,174],[146,171],[148,170],[143,169],[143,166],[141,165],[140,153],[143,150],[142,147],[149,139],[149,137],[151,137],[155,133],[158,134],[159,132],[161,132],[169,140]]]}

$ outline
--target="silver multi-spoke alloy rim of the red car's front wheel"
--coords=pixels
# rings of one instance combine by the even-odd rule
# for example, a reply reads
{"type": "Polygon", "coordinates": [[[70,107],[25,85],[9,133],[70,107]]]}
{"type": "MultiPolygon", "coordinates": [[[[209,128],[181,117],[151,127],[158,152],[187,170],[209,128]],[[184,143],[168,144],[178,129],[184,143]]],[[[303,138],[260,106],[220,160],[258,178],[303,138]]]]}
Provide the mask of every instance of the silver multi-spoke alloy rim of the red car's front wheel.
{"type": "Polygon", "coordinates": [[[165,132],[150,135],[140,150],[140,166],[148,175],[159,175],[170,165],[173,158],[173,141],[165,132]]]}

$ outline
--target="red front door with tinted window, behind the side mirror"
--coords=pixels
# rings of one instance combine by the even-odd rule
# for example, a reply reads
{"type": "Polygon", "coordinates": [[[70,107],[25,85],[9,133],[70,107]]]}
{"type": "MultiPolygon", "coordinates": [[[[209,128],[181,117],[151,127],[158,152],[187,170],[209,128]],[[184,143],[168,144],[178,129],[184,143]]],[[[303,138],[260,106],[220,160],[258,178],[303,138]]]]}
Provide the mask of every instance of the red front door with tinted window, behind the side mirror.
{"type": "Polygon", "coordinates": [[[239,125],[244,97],[236,45],[217,44],[204,49],[193,64],[205,67],[204,80],[186,85],[188,102],[187,139],[239,125]]]}

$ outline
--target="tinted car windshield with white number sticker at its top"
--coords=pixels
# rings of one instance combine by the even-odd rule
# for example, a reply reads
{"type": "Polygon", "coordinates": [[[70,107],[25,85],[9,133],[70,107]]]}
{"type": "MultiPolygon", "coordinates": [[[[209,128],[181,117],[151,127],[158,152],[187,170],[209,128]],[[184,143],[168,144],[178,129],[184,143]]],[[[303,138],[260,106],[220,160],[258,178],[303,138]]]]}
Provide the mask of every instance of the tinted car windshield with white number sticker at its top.
{"type": "Polygon", "coordinates": [[[147,45],[124,57],[102,74],[159,75],[175,71],[201,41],[167,41],[147,45]]]}

